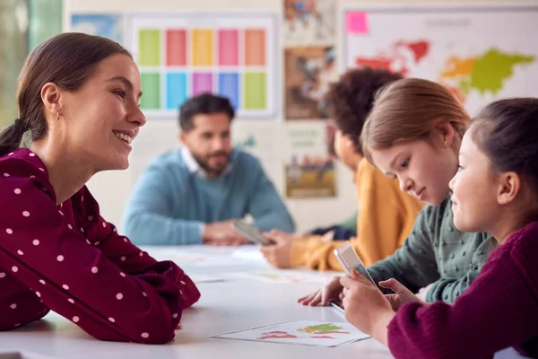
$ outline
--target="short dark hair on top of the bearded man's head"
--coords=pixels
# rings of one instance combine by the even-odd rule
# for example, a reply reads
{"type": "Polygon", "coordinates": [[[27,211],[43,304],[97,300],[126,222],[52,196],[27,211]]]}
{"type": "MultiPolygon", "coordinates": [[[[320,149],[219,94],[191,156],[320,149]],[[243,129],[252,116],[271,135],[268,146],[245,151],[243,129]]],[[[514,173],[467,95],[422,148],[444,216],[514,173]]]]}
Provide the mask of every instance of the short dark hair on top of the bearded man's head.
{"type": "Polygon", "coordinates": [[[235,116],[230,100],[226,97],[213,95],[213,93],[202,93],[191,97],[181,105],[179,108],[179,127],[182,131],[190,131],[195,127],[196,115],[212,113],[225,113],[230,121],[235,116]]]}

